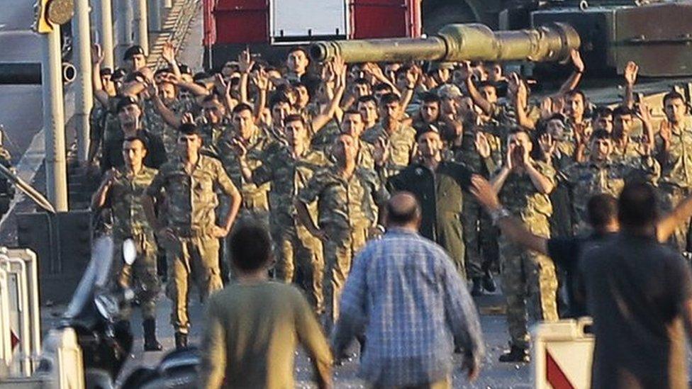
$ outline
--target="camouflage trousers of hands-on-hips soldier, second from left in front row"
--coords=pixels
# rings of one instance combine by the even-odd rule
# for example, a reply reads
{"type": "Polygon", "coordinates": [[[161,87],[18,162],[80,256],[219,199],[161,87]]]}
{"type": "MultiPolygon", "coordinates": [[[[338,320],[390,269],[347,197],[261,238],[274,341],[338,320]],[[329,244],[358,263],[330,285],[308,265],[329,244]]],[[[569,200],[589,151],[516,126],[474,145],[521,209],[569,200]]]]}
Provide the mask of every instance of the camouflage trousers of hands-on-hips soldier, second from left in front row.
{"type": "Polygon", "coordinates": [[[218,267],[219,242],[215,237],[199,235],[178,237],[162,244],[168,259],[166,293],[173,301],[171,324],[176,332],[186,334],[190,328],[187,308],[190,280],[197,284],[202,300],[223,288],[218,267]]]}

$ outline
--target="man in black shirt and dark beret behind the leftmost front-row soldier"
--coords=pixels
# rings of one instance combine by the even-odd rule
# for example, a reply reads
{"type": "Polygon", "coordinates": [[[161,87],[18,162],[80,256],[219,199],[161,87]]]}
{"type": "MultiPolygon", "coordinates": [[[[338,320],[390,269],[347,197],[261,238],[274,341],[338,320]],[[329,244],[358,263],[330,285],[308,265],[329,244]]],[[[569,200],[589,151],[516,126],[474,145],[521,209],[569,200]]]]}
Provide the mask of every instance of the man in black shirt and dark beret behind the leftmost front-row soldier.
{"type": "Polygon", "coordinates": [[[137,137],[146,143],[147,156],[144,158],[144,166],[158,169],[166,162],[166,148],[163,141],[157,135],[147,131],[142,126],[142,109],[137,100],[131,96],[125,96],[118,101],[116,107],[121,132],[111,137],[104,145],[101,157],[101,171],[108,171],[112,167],[122,167],[123,141],[130,137],[137,137]]]}

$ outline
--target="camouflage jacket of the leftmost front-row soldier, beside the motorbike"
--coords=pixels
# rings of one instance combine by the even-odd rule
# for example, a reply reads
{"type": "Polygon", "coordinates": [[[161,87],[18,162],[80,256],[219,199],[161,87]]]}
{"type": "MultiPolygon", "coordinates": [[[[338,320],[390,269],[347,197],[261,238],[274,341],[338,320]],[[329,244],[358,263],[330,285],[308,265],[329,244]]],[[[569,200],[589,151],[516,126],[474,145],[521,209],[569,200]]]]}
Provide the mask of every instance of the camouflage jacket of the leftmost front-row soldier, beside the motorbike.
{"type": "Polygon", "coordinates": [[[131,176],[125,167],[113,168],[114,179],[108,191],[108,201],[113,210],[113,235],[119,238],[152,234],[147,215],[142,206],[142,196],[151,184],[156,169],[143,166],[131,176]]]}

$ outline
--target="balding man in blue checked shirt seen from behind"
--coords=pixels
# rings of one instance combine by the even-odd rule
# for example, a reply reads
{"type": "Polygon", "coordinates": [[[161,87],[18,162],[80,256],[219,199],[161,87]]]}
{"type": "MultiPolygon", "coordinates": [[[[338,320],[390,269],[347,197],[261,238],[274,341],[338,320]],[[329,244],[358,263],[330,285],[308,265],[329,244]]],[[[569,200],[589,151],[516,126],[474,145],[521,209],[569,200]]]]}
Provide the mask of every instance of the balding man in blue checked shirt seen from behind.
{"type": "Polygon", "coordinates": [[[386,234],[353,261],[333,333],[335,355],[364,332],[360,376],[374,388],[452,388],[456,346],[474,380],[484,344],[466,283],[445,250],[418,235],[413,194],[397,193],[386,207],[386,234]]]}

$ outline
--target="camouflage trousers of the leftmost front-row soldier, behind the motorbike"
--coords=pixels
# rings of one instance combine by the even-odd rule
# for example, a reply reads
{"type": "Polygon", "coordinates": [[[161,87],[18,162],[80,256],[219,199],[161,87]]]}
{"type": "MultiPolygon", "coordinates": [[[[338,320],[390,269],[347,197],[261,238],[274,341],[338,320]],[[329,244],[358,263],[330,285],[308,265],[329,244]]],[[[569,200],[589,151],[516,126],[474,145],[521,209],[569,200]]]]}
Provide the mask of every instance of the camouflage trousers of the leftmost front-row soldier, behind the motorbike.
{"type": "MultiPolygon", "coordinates": [[[[125,264],[123,259],[123,242],[126,237],[113,237],[115,250],[113,252],[113,265],[111,272],[113,281],[121,289],[132,288],[142,308],[142,317],[154,319],[156,317],[156,300],[161,290],[157,274],[157,247],[152,233],[139,234],[131,237],[137,247],[137,257],[131,265],[125,264]]],[[[121,320],[128,320],[132,314],[129,304],[123,306],[119,313],[121,320]]]]}

